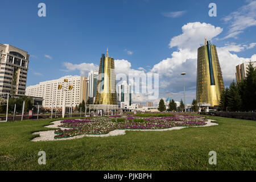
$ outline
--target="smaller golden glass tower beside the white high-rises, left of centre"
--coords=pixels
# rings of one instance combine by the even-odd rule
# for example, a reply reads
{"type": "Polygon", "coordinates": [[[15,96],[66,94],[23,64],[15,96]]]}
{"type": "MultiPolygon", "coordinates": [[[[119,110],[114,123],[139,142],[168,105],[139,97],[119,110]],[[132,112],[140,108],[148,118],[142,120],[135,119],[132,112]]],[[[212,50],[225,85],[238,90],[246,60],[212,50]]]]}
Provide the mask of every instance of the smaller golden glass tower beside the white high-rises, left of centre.
{"type": "Polygon", "coordinates": [[[109,52],[107,49],[106,56],[104,53],[101,55],[95,100],[96,104],[117,105],[117,92],[115,90],[115,84],[114,58],[109,57],[109,52]]]}

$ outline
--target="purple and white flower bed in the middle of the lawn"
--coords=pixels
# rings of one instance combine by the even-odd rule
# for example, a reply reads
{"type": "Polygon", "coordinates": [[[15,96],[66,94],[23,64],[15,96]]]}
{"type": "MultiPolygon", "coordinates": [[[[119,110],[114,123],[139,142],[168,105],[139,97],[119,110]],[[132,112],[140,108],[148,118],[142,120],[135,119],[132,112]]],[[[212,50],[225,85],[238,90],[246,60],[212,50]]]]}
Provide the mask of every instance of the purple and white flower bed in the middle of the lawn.
{"type": "Polygon", "coordinates": [[[98,117],[80,119],[66,119],[61,121],[60,127],[65,127],[65,130],[55,130],[55,138],[67,138],[82,134],[99,135],[108,134],[116,129],[129,130],[156,130],[168,129],[176,126],[202,126],[206,125],[206,119],[195,117],[192,115],[174,115],[166,117],[135,117],[128,116],[122,118],[120,116],[98,117]],[[120,118],[122,122],[114,122],[120,118]]]}

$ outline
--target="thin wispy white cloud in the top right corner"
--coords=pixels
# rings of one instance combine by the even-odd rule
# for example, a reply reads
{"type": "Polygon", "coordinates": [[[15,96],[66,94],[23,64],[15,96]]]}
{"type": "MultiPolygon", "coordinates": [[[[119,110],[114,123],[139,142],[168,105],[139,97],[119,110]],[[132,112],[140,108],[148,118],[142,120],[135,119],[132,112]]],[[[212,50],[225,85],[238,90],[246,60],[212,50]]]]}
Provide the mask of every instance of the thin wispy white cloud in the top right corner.
{"type": "Polygon", "coordinates": [[[228,35],[222,39],[237,38],[243,30],[256,26],[256,1],[247,1],[248,5],[240,7],[237,11],[223,18],[224,22],[230,23],[228,35]]]}

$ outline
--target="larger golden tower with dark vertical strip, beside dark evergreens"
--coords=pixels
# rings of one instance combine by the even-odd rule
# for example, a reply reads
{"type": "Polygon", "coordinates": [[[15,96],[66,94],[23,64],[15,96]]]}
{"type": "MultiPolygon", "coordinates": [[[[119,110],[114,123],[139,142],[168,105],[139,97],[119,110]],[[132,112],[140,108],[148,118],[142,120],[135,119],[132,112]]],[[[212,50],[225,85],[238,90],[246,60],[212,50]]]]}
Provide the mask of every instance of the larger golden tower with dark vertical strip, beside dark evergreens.
{"type": "Polygon", "coordinates": [[[211,106],[220,105],[222,90],[224,84],[216,46],[205,38],[204,46],[197,50],[196,100],[211,106]]]}

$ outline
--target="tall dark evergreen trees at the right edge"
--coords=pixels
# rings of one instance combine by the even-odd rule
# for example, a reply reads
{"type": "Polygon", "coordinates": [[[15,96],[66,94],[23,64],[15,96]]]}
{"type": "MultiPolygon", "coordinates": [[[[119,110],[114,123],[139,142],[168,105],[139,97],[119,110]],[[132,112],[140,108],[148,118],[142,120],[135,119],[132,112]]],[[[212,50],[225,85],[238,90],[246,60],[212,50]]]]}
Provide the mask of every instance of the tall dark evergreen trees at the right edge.
{"type": "Polygon", "coordinates": [[[222,111],[255,111],[256,110],[256,69],[250,62],[246,77],[240,82],[232,82],[223,90],[220,98],[222,111]]]}

